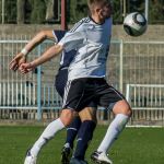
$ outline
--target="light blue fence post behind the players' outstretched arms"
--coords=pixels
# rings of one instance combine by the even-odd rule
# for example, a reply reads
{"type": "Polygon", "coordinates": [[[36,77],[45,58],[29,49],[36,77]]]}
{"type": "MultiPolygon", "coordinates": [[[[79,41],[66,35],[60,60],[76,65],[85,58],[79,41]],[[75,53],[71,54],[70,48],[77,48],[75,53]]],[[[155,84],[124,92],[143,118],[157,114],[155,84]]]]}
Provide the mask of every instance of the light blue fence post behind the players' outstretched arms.
{"type": "MultiPolygon", "coordinates": [[[[42,46],[38,46],[38,57],[42,54],[42,46]]],[[[42,119],[42,67],[37,67],[37,120],[42,119]]]]}

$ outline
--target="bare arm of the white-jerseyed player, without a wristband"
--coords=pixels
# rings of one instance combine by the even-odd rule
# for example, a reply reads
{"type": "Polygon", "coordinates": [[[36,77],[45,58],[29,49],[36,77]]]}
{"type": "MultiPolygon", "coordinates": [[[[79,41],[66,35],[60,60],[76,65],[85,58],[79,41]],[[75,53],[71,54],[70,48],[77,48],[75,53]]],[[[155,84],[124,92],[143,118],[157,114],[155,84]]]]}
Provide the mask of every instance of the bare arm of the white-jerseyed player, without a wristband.
{"type": "Polygon", "coordinates": [[[48,50],[46,50],[40,57],[33,60],[32,62],[22,63],[20,67],[20,70],[23,74],[27,73],[27,72],[32,71],[34,68],[36,68],[37,66],[58,56],[59,54],[61,54],[62,50],[63,50],[62,45],[55,45],[55,46],[50,47],[48,50]]]}

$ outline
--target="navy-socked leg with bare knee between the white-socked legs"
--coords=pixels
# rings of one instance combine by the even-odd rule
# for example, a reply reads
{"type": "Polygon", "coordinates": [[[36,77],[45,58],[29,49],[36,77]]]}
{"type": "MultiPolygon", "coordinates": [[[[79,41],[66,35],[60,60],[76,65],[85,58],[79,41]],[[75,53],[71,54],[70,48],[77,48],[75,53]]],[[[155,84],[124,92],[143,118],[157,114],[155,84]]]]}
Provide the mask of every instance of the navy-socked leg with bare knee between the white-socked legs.
{"type": "Polygon", "coordinates": [[[71,159],[70,164],[78,163],[78,161],[79,163],[82,163],[82,162],[86,163],[84,161],[84,155],[89,147],[89,143],[92,140],[94,129],[96,127],[96,108],[95,107],[86,107],[82,112],[80,112],[79,115],[82,120],[82,124],[78,131],[77,148],[75,148],[75,151],[74,151],[73,157],[71,159]]]}

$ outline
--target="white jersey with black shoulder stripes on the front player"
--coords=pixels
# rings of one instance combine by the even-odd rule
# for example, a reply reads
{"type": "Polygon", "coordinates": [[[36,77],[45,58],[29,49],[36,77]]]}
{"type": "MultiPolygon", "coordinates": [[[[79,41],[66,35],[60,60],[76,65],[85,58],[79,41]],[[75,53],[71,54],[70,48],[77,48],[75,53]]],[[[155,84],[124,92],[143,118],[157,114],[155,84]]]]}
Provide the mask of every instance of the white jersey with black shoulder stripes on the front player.
{"type": "Polygon", "coordinates": [[[77,49],[69,67],[69,80],[103,78],[109,51],[112,19],[96,24],[91,17],[82,19],[59,42],[66,51],[77,49]]]}

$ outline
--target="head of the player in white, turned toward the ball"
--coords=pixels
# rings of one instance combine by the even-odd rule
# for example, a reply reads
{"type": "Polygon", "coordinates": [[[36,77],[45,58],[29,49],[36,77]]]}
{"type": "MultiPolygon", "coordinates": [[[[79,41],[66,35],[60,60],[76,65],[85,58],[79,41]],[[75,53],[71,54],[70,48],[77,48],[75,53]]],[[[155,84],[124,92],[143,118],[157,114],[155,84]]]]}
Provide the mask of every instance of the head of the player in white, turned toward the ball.
{"type": "Polygon", "coordinates": [[[102,20],[110,17],[110,0],[87,0],[87,4],[92,15],[97,15],[102,20]]]}

